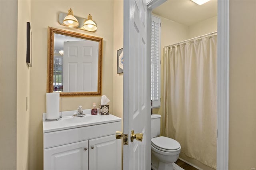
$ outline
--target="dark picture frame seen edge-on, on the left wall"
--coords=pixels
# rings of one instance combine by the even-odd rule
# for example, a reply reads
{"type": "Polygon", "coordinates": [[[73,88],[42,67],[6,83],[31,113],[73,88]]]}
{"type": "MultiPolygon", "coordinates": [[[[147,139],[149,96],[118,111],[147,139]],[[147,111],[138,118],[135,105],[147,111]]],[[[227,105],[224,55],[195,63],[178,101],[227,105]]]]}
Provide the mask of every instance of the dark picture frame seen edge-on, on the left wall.
{"type": "Polygon", "coordinates": [[[26,63],[28,67],[32,67],[32,31],[30,22],[27,22],[27,54],[26,63]]]}

